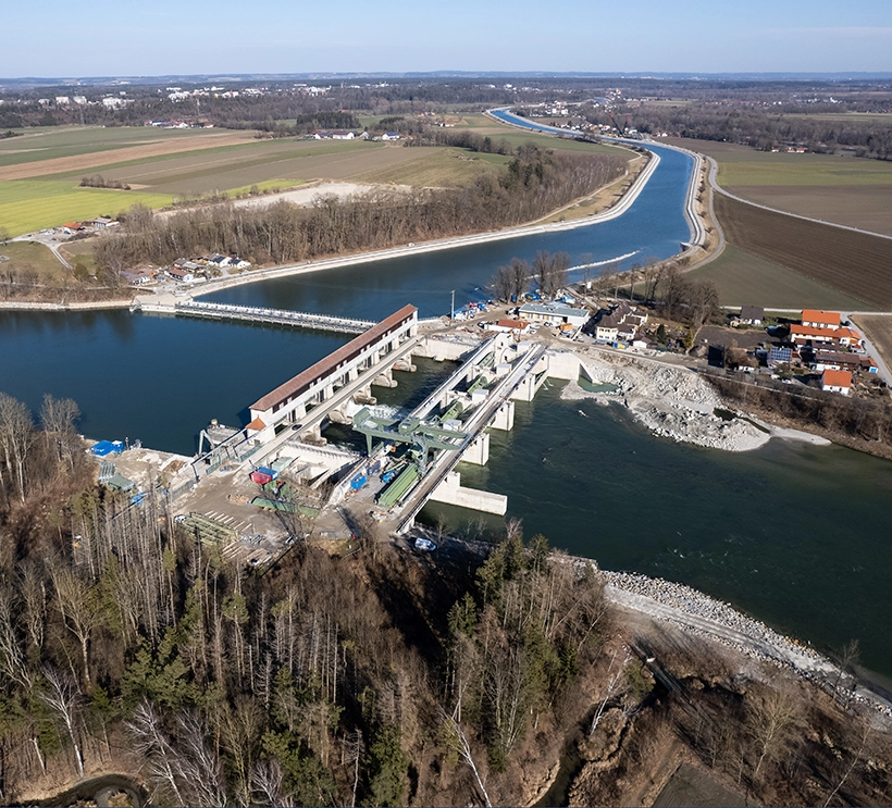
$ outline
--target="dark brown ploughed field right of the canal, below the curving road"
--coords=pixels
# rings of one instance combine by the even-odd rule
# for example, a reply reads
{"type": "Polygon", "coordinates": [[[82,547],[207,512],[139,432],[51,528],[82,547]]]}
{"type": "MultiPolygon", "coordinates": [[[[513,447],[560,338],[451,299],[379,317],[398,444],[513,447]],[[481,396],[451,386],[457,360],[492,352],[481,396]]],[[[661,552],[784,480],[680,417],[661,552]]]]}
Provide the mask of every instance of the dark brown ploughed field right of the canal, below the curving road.
{"type": "Polygon", "coordinates": [[[869,309],[892,311],[892,240],[784,216],[721,195],[716,196],[716,214],[732,246],[863,300],[869,309]]]}

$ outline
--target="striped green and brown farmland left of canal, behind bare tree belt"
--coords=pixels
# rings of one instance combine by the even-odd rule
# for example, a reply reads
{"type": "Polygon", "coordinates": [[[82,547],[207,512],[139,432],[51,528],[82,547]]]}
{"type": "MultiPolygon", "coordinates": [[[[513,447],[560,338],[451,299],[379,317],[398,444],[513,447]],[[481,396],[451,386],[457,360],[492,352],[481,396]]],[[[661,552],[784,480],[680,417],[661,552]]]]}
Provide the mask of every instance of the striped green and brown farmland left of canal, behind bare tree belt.
{"type": "MultiPolygon", "coordinates": [[[[484,115],[457,126],[493,133],[510,145],[533,140],[556,150],[600,147],[526,135],[484,115]]],[[[610,149],[616,153],[616,150],[610,149]]],[[[0,140],[0,226],[17,235],[70,220],[116,215],[134,203],[164,208],[209,195],[287,188],[314,179],[457,187],[491,173],[507,158],[456,148],[404,148],[349,140],[257,139],[252,133],[149,127],[27,130],[0,140]],[[80,188],[101,174],[132,190],[80,188]]]]}

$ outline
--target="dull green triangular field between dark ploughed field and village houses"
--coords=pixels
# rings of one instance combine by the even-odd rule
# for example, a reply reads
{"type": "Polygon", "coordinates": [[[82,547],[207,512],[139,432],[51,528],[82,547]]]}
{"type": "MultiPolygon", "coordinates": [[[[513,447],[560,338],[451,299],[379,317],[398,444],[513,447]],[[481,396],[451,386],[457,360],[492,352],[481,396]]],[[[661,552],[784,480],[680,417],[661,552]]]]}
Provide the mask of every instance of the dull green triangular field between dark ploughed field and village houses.
{"type": "Polygon", "coordinates": [[[864,309],[866,303],[810,277],[728,245],[715,261],[693,270],[694,281],[711,281],[722,306],[778,309],[864,309]]]}

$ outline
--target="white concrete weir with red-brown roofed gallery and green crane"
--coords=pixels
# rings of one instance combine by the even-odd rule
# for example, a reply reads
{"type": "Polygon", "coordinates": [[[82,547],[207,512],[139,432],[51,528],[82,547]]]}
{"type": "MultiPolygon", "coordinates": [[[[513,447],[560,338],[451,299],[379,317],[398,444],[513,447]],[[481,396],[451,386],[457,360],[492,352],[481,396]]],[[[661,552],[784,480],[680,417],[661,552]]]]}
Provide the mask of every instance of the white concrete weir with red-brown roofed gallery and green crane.
{"type": "Polygon", "coordinates": [[[262,467],[314,488],[337,481],[331,507],[396,532],[429,499],[504,515],[507,498],[462,487],[455,467],[485,464],[487,427],[511,430],[515,401],[532,400],[549,375],[578,377],[579,360],[509,334],[483,343],[438,336],[420,336],[418,310],[404,307],[251,405],[247,426],[203,431],[188,473],[198,482],[220,468],[262,467]],[[413,355],[462,364],[409,413],[376,407],[372,387],[396,386],[394,370],[413,371],[413,355]],[[351,425],[366,452],[327,446],[330,423],[351,425]]]}

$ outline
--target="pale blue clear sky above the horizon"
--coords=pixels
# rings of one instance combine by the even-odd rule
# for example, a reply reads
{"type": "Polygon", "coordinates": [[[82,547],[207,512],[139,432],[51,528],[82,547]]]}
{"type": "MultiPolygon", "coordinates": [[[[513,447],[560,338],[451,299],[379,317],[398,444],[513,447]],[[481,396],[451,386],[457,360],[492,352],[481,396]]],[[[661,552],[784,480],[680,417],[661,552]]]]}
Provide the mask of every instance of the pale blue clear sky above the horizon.
{"type": "Polygon", "coordinates": [[[892,72],[890,0],[11,2],[0,76],[892,72]]]}

